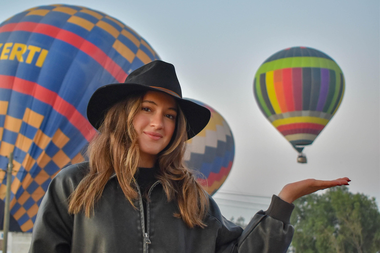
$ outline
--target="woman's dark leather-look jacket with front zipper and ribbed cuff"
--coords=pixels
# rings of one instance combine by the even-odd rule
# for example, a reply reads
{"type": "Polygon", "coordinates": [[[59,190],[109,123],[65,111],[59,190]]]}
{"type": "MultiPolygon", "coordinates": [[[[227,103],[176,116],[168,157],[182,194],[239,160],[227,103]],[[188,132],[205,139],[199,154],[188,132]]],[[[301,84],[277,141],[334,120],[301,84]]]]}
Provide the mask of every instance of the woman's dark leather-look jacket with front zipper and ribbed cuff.
{"type": "Polygon", "coordinates": [[[175,202],[168,202],[159,182],[150,191],[147,224],[142,201],[135,209],[117,178],[106,184],[95,215],[69,215],[67,198],[88,171],[84,162],[62,169],[51,181],[33,228],[29,253],[285,253],[293,236],[293,205],[273,196],[267,211],[255,214],[243,229],[225,219],[214,200],[204,220],[189,228],[175,202]]]}

